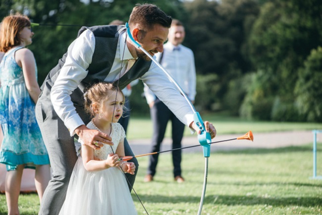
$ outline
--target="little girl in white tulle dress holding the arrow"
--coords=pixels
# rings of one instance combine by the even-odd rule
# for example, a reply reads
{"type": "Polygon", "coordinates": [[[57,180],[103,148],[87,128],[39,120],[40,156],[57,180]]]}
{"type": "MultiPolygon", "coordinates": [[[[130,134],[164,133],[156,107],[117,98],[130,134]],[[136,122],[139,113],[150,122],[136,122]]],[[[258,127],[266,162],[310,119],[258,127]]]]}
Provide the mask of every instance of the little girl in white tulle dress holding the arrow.
{"type": "Polygon", "coordinates": [[[117,123],[122,116],[124,95],[113,84],[98,83],[88,89],[84,98],[85,109],[94,116],[87,127],[110,135],[114,145],[104,144],[94,150],[79,140],[81,153],[60,215],[136,215],[124,177],[124,173],[134,174],[135,165],[118,161],[125,156],[125,132],[117,123]]]}

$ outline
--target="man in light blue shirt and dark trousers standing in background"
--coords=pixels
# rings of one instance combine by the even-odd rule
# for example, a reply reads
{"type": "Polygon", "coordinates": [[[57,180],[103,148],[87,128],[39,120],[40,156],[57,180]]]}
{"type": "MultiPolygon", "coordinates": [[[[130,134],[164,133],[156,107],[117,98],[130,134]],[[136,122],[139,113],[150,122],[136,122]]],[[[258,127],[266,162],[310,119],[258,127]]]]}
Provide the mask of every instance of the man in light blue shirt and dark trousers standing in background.
{"type": "MultiPolygon", "coordinates": [[[[157,60],[180,85],[182,90],[194,103],[196,96],[196,69],[194,55],[191,49],[182,46],[185,31],[179,20],[173,19],[168,34],[168,43],[163,46],[163,53],[156,54],[157,60]]],[[[160,152],[161,142],[164,138],[166,125],[172,122],[172,149],[181,148],[185,125],[164,105],[163,102],[150,90],[148,85],[144,86],[144,94],[150,106],[153,121],[152,151],[160,152]]],[[[159,154],[150,156],[145,182],[153,180],[156,174],[159,154]]],[[[183,182],[181,176],[181,150],[172,151],[173,175],[177,182],[183,182]]]]}

